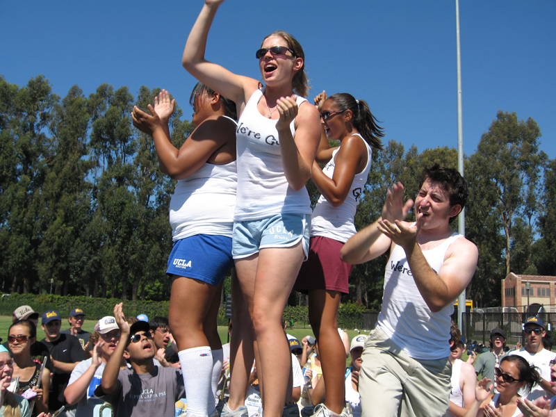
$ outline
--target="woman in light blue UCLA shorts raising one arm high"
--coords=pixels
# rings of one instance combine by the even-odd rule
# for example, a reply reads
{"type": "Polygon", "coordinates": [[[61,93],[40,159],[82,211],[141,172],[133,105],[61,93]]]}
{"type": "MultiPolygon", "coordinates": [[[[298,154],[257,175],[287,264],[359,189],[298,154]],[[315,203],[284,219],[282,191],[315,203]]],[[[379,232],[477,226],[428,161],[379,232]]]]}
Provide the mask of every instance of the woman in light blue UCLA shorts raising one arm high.
{"type": "MultiPolygon", "coordinates": [[[[248,333],[254,329],[265,417],[278,417],[291,373],[281,317],[309,250],[311,206],[305,183],[320,138],[318,111],[302,98],[307,90],[304,53],[288,33],[271,33],[256,51],[262,87],[259,81],[232,74],[204,58],[208,30],[220,3],[204,2],[182,63],[195,78],[233,99],[240,115],[233,254],[252,322],[234,317],[232,338],[240,338],[242,345],[238,350],[238,343],[232,341],[230,399],[223,414],[241,405],[241,393],[245,398],[251,363],[238,354],[252,357],[247,345],[252,338],[248,333]]],[[[297,412],[295,404],[289,409],[297,412]]]]}

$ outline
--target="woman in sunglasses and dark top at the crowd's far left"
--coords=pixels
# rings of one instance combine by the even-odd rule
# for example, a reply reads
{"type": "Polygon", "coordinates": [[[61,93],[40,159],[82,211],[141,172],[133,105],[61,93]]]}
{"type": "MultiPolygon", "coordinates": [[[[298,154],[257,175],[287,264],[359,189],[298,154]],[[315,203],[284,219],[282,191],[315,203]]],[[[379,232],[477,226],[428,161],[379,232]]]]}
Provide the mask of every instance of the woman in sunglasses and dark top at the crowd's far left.
{"type": "Polygon", "coordinates": [[[15,393],[22,395],[28,389],[32,389],[37,396],[33,415],[40,412],[48,412],[48,390],[50,386],[50,372],[44,369],[40,375],[41,364],[31,358],[31,346],[37,341],[37,329],[35,324],[29,320],[18,320],[8,330],[8,346],[12,352],[14,365],[13,377],[19,377],[19,386],[15,393]],[[39,385],[40,378],[40,388],[39,385]]]}

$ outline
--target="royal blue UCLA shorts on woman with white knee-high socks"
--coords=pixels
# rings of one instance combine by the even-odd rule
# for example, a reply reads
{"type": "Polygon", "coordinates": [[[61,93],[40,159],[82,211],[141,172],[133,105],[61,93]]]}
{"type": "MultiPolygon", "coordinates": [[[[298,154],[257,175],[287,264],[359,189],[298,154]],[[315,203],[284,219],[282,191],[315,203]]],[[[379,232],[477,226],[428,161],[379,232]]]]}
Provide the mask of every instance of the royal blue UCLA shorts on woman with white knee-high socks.
{"type": "Polygon", "coordinates": [[[231,238],[199,234],[174,242],[166,273],[218,286],[232,266],[231,238]]]}

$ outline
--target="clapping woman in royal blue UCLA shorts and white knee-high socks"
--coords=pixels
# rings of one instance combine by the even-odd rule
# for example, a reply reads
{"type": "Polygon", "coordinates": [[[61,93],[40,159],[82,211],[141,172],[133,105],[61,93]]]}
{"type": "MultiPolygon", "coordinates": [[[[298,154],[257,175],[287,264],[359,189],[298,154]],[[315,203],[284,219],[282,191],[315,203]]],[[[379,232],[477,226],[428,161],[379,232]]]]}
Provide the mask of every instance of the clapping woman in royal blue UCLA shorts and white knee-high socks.
{"type": "Polygon", "coordinates": [[[196,128],[178,150],[168,120],[174,100],[167,91],[149,105],[133,108],[133,124],[152,135],[161,170],[178,182],[170,200],[174,247],[166,273],[172,277],[170,329],[179,350],[187,388],[188,414],[216,414],[215,393],[222,370],[217,330],[222,281],[234,265],[231,231],[236,203],[236,105],[197,83],[190,96],[196,128]]]}

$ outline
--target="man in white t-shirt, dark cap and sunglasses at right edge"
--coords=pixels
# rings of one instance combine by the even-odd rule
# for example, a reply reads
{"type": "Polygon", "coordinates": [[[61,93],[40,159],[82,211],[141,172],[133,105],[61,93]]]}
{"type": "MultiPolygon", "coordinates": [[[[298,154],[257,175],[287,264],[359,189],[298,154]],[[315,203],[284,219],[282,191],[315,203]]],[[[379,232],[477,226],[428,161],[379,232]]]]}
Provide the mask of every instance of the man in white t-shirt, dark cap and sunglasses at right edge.
{"type": "Polygon", "coordinates": [[[533,401],[543,395],[555,395],[556,390],[550,385],[550,361],[554,359],[554,353],[543,346],[543,337],[546,336],[543,320],[539,316],[528,318],[523,325],[523,332],[525,333],[525,347],[509,352],[509,354],[518,354],[530,365],[537,366],[542,378],[541,383],[535,385],[525,398],[533,401]]]}

